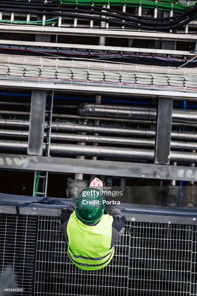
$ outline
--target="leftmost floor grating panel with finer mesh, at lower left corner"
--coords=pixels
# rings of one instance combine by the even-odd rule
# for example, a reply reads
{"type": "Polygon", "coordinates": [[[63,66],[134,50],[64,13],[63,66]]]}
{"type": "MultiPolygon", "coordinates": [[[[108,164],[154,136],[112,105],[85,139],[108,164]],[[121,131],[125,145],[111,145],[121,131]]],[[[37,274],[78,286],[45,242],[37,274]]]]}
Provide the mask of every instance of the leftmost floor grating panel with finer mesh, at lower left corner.
{"type": "Polygon", "coordinates": [[[0,216],[0,274],[11,265],[25,295],[33,295],[37,220],[35,216],[0,216]]]}

